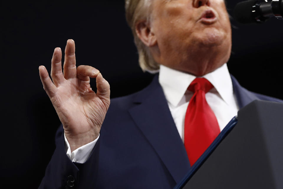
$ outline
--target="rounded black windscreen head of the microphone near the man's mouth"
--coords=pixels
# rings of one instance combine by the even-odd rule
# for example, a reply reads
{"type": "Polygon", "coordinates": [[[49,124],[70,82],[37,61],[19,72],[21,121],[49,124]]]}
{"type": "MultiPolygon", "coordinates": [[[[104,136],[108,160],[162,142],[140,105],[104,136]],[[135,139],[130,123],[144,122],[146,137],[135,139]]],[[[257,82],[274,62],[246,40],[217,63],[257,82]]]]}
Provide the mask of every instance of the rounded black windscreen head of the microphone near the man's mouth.
{"type": "Polygon", "coordinates": [[[243,1],[236,4],[234,9],[234,19],[241,23],[256,22],[253,17],[253,6],[259,2],[258,0],[243,1]]]}

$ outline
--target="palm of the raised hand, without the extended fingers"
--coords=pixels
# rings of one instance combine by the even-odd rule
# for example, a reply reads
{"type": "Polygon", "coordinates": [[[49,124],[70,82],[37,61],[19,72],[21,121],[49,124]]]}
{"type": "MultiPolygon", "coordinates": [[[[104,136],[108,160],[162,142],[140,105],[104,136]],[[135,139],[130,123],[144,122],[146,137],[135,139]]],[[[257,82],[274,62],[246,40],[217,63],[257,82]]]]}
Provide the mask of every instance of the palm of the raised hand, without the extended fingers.
{"type": "Polygon", "coordinates": [[[52,104],[64,126],[65,132],[84,133],[99,129],[107,105],[80,79],[68,79],[51,97],[52,104]],[[98,128],[95,128],[98,127],[98,128]]]}

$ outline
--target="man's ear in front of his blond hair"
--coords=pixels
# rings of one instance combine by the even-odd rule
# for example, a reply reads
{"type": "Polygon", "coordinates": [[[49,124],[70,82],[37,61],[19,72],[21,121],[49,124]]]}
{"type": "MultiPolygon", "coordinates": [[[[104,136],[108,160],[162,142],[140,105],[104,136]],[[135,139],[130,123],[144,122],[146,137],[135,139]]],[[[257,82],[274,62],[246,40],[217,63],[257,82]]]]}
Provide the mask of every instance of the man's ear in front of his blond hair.
{"type": "Polygon", "coordinates": [[[148,47],[152,47],[157,44],[157,39],[146,20],[140,20],[135,25],[136,35],[139,39],[148,47]]]}

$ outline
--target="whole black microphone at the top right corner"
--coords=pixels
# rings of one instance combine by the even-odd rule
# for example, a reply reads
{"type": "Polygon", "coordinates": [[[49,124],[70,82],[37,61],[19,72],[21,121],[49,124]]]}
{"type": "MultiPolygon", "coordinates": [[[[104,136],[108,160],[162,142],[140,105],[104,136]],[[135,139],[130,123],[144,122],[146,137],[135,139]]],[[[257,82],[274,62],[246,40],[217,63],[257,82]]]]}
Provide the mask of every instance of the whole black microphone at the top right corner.
{"type": "Polygon", "coordinates": [[[236,4],[234,18],[241,23],[261,23],[270,17],[282,19],[283,0],[249,0],[236,4]]]}

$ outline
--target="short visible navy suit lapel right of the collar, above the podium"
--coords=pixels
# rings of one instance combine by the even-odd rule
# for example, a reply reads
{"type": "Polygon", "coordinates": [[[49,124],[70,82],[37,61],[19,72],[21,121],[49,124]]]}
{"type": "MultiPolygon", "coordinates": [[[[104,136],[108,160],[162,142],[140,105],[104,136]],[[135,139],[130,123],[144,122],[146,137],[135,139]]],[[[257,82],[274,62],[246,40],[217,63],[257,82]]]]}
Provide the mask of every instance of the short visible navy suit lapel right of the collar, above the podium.
{"type": "Polygon", "coordinates": [[[233,84],[233,91],[234,91],[234,94],[236,95],[238,106],[240,109],[248,105],[254,100],[259,100],[259,98],[254,93],[243,88],[238,83],[238,81],[235,79],[234,76],[231,75],[231,79],[232,79],[232,84],[233,84]]]}

